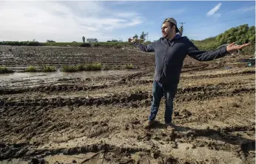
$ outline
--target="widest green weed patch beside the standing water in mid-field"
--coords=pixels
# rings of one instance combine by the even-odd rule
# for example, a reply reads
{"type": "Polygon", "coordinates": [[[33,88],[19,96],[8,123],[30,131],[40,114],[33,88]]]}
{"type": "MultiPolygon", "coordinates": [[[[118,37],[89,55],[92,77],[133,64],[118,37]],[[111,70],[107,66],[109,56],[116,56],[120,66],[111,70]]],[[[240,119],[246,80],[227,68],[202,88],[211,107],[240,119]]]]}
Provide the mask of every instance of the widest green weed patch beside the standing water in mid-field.
{"type": "Polygon", "coordinates": [[[99,71],[101,70],[101,63],[90,63],[85,65],[64,65],[61,67],[64,72],[76,71],[99,71]]]}

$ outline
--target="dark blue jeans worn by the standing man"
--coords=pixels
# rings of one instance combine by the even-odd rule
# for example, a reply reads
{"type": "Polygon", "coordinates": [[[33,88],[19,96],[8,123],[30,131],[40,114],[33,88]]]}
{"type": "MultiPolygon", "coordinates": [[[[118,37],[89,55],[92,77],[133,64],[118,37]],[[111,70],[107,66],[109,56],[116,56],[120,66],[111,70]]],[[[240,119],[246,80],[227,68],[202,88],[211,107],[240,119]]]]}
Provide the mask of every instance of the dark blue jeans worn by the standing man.
{"type": "Polygon", "coordinates": [[[173,99],[177,92],[178,84],[175,85],[159,85],[158,82],[153,83],[153,101],[149,120],[155,120],[158,114],[159,105],[163,96],[166,99],[164,121],[166,124],[172,123],[173,99]]]}

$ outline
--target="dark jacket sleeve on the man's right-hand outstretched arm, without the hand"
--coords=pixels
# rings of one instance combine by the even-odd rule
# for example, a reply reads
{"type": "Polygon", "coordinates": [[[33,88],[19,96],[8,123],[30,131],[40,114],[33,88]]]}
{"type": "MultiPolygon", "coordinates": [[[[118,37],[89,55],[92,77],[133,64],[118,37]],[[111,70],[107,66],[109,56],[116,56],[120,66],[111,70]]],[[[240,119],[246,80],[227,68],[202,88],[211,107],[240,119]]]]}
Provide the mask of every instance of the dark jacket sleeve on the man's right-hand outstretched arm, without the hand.
{"type": "Polygon", "coordinates": [[[200,51],[198,47],[189,40],[188,55],[198,61],[210,61],[226,56],[226,47],[212,51],[200,51]]]}

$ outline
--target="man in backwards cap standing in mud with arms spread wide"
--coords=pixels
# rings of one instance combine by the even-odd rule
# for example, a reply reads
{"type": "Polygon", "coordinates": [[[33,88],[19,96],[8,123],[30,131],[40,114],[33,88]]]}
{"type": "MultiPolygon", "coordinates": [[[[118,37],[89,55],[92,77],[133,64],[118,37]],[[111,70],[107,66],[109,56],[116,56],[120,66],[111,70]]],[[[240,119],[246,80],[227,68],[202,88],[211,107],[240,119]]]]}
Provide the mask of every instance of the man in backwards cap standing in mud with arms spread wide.
{"type": "Polygon", "coordinates": [[[161,98],[165,96],[166,109],[164,120],[167,129],[173,130],[175,129],[175,126],[172,124],[173,99],[178,88],[181,68],[186,55],[188,54],[198,61],[215,60],[225,57],[230,51],[243,49],[249,43],[240,46],[235,46],[235,43],[231,43],[229,46],[214,51],[200,51],[188,38],[177,34],[179,30],[174,18],[166,18],[162,24],[161,31],[163,37],[149,45],[141,44],[136,40],[133,44],[141,51],[155,51],[155,75],[152,87],[153,101],[145,128],[154,123],[161,98]]]}

